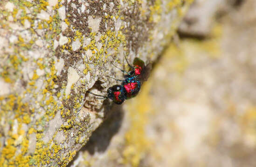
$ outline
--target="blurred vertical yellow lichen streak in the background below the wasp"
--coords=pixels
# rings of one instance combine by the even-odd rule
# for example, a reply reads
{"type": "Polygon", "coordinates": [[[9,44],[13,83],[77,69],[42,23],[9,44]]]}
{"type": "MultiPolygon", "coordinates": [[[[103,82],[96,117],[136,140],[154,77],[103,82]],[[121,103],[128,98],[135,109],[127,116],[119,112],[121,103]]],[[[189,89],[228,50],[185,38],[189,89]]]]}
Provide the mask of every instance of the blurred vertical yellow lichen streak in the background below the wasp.
{"type": "Polygon", "coordinates": [[[125,134],[126,144],[122,154],[123,163],[129,163],[133,167],[138,167],[143,155],[150,148],[151,141],[145,136],[147,116],[152,112],[150,88],[150,82],[145,83],[138,97],[127,101],[131,127],[125,134]]]}

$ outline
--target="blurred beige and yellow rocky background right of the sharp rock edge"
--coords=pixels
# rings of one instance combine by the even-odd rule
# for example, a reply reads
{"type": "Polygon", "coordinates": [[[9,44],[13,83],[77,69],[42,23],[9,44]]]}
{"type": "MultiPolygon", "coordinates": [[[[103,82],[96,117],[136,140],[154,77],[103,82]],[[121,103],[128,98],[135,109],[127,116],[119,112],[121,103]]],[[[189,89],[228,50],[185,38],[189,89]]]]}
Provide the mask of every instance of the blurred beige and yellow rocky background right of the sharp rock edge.
{"type": "Polygon", "coordinates": [[[195,0],[70,167],[256,167],[256,0],[195,0]]]}

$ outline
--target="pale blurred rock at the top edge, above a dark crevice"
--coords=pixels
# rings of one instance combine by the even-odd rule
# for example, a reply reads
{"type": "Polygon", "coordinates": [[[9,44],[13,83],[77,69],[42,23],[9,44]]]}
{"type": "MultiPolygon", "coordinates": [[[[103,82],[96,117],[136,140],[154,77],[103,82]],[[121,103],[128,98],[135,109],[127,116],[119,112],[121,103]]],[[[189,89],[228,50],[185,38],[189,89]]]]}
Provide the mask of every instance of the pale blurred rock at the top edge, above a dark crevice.
{"type": "Polygon", "coordinates": [[[216,16],[234,10],[243,0],[195,0],[179,26],[181,36],[207,37],[216,16]]]}

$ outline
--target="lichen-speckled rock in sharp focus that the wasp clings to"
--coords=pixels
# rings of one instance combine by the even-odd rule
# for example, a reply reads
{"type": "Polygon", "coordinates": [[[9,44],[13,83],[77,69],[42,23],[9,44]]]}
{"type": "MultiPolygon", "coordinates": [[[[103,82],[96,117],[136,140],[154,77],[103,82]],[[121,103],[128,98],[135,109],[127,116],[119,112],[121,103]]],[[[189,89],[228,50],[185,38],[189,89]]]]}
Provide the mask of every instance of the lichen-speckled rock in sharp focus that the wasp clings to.
{"type": "Polygon", "coordinates": [[[0,166],[66,166],[112,108],[86,91],[155,61],[192,1],[1,0],[0,166]]]}

